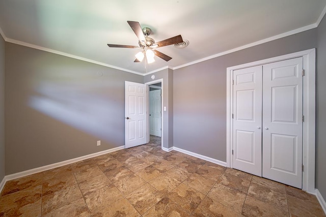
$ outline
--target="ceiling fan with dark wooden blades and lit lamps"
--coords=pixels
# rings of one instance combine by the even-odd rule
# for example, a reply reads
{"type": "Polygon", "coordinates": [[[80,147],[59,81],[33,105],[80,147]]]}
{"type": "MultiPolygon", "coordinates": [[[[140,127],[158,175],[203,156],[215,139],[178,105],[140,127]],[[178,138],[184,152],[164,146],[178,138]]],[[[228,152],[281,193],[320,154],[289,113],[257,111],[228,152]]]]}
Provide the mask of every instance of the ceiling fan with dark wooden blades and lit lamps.
{"type": "Polygon", "coordinates": [[[139,22],[136,21],[127,21],[130,27],[132,28],[134,34],[139,39],[139,46],[132,46],[132,45],[117,45],[117,44],[107,44],[109,47],[121,47],[121,48],[140,48],[142,49],[141,52],[137,53],[136,59],[134,60],[135,63],[141,62],[145,57],[145,68],[147,63],[153,63],[154,55],[169,61],[172,57],[155,50],[158,47],[164,47],[172,44],[182,43],[181,35],[162,40],[159,42],[155,42],[154,39],[148,37],[151,34],[151,29],[149,27],[142,28],[139,22]]]}

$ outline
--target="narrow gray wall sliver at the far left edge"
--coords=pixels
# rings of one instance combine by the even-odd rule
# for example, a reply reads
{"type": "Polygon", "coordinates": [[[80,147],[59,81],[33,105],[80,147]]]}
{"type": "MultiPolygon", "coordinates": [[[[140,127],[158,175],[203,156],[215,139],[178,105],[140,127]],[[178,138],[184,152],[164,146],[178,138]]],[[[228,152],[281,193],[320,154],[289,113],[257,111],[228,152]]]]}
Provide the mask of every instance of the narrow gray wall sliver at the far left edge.
{"type": "Polygon", "coordinates": [[[5,169],[5,40],[0,35],[0,182],[5,169]]]}

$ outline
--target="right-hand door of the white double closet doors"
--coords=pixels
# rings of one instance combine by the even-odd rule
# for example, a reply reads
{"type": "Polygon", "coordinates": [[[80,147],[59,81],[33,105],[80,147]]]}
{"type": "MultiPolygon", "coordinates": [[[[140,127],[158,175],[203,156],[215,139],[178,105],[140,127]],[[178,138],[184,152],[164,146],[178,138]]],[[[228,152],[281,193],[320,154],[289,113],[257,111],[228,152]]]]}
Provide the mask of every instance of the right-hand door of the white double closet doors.
{"type": "Polygon", "coordinates": [[[262,175],[302,188],[303,58],[263,66],[262,175]]]}

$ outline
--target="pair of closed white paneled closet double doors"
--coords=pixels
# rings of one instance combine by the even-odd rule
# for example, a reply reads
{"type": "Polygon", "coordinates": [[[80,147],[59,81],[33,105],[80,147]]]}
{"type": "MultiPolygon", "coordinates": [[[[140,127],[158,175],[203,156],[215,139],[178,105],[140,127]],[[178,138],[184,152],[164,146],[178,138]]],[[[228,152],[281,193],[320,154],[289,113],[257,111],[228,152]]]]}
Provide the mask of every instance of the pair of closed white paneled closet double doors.
{"type": "Polygon", "coordinates": [[[303,58],[233,71],[233,168],[302,188],[303,58]]]}

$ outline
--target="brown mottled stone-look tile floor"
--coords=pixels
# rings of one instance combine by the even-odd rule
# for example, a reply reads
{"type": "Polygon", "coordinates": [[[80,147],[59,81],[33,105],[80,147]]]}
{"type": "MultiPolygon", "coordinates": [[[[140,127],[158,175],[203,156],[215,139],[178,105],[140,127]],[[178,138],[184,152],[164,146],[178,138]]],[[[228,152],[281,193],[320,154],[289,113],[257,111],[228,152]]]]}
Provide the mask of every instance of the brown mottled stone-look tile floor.
{"type": "Polygon", "coordinates": [[[184,153],[160,138],[8,181],[0,216],[325,216],[315,196],[184,153]]]}

